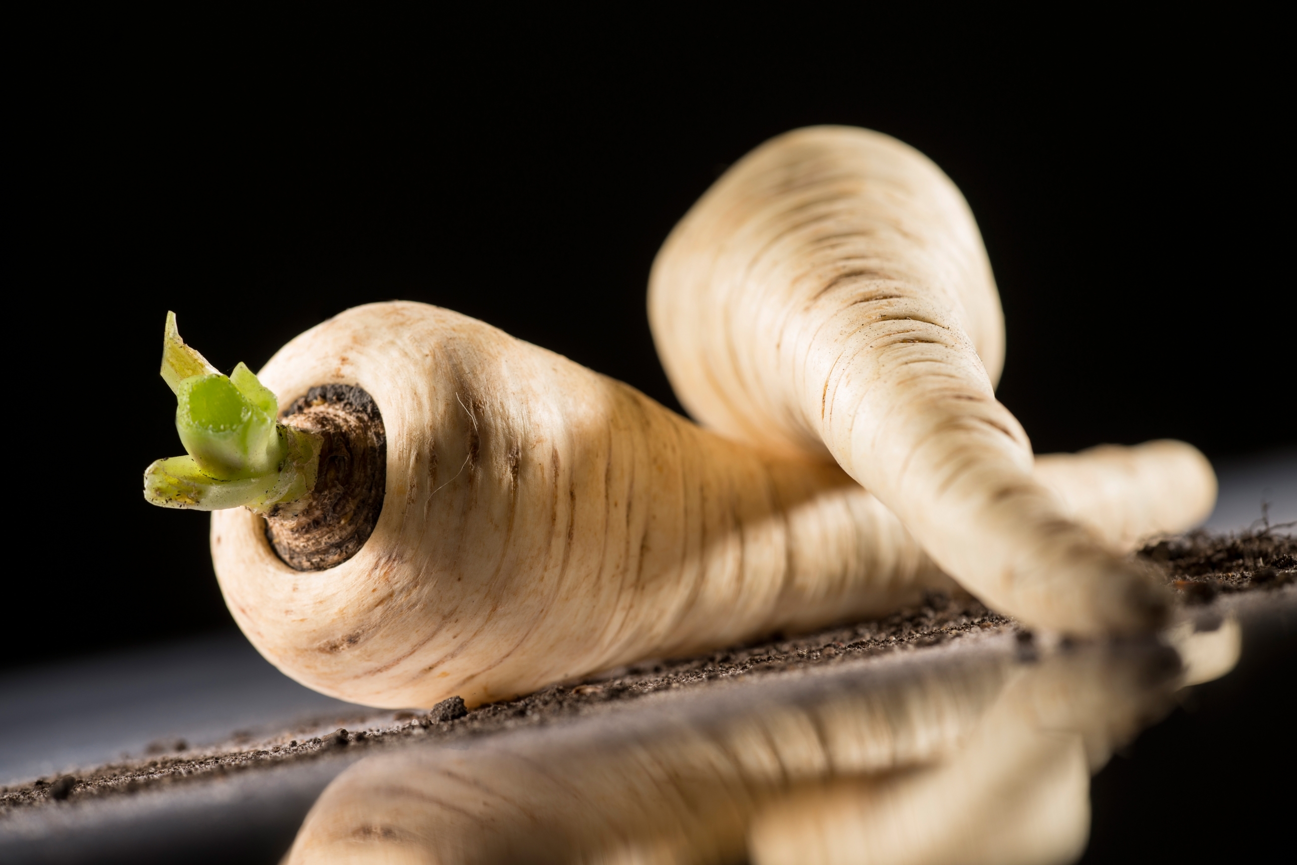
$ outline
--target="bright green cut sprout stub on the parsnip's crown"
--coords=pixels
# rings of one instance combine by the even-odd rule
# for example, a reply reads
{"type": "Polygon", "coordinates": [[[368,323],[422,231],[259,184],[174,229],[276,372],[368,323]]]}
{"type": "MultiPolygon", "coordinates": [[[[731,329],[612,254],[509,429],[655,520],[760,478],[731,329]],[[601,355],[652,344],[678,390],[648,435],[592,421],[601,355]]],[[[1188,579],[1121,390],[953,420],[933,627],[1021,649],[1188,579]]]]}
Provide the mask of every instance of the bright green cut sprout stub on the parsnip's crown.
{"type": "Polygon", "coordinates": [[[161,507],[258,514],[315,486],[320,437],[275,420],[279,399],[240,363],[228,376],[191,349],[166,314],[162,379],[175,393],[175,428],[188,456],[144,471],[144,498],[161,507]]]}

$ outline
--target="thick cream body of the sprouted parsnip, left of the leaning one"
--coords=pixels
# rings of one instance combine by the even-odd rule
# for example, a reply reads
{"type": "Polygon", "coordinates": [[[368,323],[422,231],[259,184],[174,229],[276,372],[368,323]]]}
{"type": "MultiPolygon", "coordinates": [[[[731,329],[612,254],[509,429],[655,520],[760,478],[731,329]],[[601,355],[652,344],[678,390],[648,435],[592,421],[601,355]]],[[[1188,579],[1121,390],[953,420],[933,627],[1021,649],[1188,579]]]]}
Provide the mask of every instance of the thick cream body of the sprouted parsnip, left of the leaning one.
{"type": "Polygon", "coordinates": [[[293,571],[261,517],[213,515],[239,626],[333,696],[475,705],[953,587],[837,466],[737,445],[447,310],[349,310],[259,377],[281,407],[358,385],[387,428],[383,512],[348,562],[293,571]]]}

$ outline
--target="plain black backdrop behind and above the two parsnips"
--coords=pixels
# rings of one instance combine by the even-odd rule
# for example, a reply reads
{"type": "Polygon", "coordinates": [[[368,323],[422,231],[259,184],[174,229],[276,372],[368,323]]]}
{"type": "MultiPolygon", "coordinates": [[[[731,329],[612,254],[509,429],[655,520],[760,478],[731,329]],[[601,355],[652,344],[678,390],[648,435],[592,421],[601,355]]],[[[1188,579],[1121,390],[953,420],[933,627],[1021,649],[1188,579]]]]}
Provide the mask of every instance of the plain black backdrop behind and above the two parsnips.
{"type": "Polygon", "coordinates": [[[349,306],[427,301],[678,409],[652,257],[726,165],[804,124],[895,135],[964,189],[1008,322],[1000,398],[1038,450],[1297,441],[1262,21],[82,23],[12,82],[10,384],[32,389],[10,409],[47,421],[10,432],[6,667],[233,626],[208,517],[140,497],[182,451],[166,310],[228,371],[349,306]]]}

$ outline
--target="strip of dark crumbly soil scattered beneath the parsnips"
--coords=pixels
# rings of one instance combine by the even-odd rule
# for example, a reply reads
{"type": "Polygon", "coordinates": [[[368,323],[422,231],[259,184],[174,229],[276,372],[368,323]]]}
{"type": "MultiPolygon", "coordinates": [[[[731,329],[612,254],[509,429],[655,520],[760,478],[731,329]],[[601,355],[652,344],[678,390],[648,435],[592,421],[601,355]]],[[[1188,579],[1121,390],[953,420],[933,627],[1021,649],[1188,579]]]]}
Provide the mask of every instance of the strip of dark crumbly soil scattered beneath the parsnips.
{"type": "MultiPolygon", "coordinates": [[[[1270,530],[1237,536],[1195,532],[1150,545],[1137,556],[1163,575],[1185,606],[1209,603],[1220,594],[1265,591],[1297,582],[1297,537],[1270,530]]],[[[1019,639],[1031,639],[1030,632],[1012,619],[987,610],[973,598],[933,594],[922,604],[883,619],[799,637],[777,635],[690,659],[646,661],[472,711],[467,711],[457,696],[428,712],[374,711],[363,717],[339,718],[350,730],[340,726],[332,733],[318,734],[307,725],[258,742],[240,741],[236,734],[233,741],[220,746],[189,751],[184,751],[183,742],[176,742],[179,753],[128,760],[77,777],[40,778],[3,788],[0,817],[21,808],[201,782],[235,772],[315,760],[344,750],[381,748],[415,737],[458,739],[538,726],[661,690],[708,687],[739,677],[790,674],[1001,630],[1017,630],[1019,639]]]]}

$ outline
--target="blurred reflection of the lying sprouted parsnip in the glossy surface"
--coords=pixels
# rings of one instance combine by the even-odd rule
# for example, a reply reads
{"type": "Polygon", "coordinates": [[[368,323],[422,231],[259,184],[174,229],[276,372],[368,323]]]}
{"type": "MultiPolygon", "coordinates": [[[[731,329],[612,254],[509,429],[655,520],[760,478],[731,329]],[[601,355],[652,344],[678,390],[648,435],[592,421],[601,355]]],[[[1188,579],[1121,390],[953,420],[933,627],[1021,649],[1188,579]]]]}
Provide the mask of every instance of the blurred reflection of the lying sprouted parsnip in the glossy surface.
{"type": "Polygon", "coordinates": [[[1008,669],[983,658],[763,683],[467,751],[371,757],[320,795],[287,861],[739,862],[761,803],[826,773],[948,753],[1008,669]]]}

